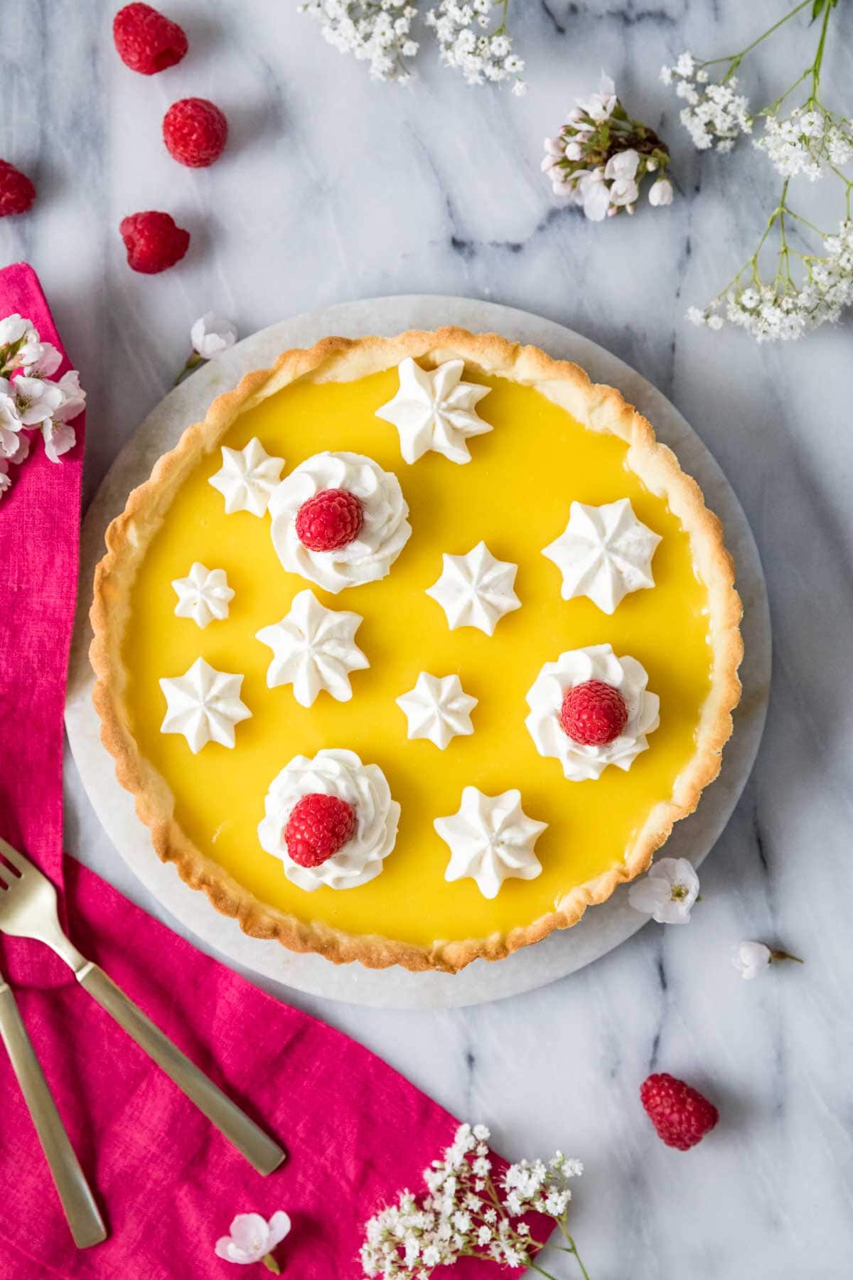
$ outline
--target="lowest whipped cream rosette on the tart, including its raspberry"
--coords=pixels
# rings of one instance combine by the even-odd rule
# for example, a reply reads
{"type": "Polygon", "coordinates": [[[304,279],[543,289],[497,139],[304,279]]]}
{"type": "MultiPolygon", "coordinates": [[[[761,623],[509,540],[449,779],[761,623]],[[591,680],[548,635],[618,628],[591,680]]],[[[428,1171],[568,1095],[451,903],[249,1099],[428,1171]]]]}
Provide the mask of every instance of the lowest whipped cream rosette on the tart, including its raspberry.
{"type": "Polygon", "coordinates": [[[357,888],[375,879],[394,849],[400,820],[379,765],[338,749],[317,751],[311,760],[294,756],[272,780],[265,810],[261,846],[280,858],[288,879],[308,893],[321,884],[357,888]],[[299,861],[290,856],[289,840],[299,861]]]}

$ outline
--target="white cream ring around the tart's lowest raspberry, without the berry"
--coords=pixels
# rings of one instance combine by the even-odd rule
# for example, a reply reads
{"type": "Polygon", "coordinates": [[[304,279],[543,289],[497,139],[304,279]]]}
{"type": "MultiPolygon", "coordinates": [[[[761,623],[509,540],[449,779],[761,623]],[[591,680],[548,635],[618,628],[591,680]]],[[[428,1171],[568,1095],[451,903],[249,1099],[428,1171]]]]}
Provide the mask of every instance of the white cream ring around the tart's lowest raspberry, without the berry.
{"type": "Polygon", "coordinates": [[[266,817],[258,840],[267,854],[284,863],[284,874],[308,893],[329,888],[357,888],[375,879],[382,860],[394,849],[400,806],[391,800],[385,774],[377,764],[362,764],[354,751],[322,750],[313,760],[295,755],[272,780],[265,800],[266,817]],[[299,867],[288,854],[284,828],[302,796],[320,792],[345,800],[356,812],[356,831],[347,844],[320,867],[299,867]]]}

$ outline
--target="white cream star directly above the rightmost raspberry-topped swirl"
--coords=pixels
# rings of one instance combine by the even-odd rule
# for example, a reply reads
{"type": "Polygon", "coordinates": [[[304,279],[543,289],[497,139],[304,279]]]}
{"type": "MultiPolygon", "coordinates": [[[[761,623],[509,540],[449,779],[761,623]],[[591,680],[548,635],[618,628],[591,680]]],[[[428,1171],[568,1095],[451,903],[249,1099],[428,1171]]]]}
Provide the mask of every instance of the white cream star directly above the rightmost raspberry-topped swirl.
{"type": "Polygon", "coordinates": [[[573,502],[565,531],[542,556],[563,573],[564,600],[587,595],[613,613],[629,591],[655,585],[651,562],[660,540],[637,520],[629,498],[601,507],[573,502]]]}

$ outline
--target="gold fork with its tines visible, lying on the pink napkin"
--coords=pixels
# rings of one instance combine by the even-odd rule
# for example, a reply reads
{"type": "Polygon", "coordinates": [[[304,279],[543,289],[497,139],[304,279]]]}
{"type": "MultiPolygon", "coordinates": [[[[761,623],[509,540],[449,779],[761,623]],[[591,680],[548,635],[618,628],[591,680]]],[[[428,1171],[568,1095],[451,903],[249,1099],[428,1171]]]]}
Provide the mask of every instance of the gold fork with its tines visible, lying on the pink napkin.
{"type": "Polygon", "coordinates": [[[47,877],[1,837],[0,855],[0,931],[14,938],[35,938],[55,951],[74,970],[81,987],[162,1068],[258,1174],[271,1174],[278,1169],[285,1158],[281,1147],[225,1097],[113,979],[81,955],[65,937],[56,918],[56,890],[47,877]]]}

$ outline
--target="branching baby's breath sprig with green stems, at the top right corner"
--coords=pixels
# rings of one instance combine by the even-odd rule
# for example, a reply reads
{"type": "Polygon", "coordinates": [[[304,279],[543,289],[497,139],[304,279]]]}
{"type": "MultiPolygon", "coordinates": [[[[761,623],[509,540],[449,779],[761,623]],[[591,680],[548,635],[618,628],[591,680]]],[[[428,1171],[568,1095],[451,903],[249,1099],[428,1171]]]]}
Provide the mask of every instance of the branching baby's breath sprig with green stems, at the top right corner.
{"type": "Polygon", "coordinates": [[[706,307],[689,308],[687,315],[694,324],[723,329],[728,321],[758,342],[792,340],[821,324],[835,323],[844,307],[853,305],[853,182],[841,172],[853,160],[853,123],[830,110],[820,96],[830,17],[836,5],[838,0],[803,0],[737,54],[701,61],[685,52],[674,67],[661,69],[661,79],[675,84],[687,104],[682,123],[700,151],[730,151],[740,134],[752,133],[763,122],[763,132],[753,145],[784,179],[755,252],[706,307]],[[806,9],[812,22],[820,19],[812,60],[779,97],[751,111],[747,99],[735,93],[738,68],[752,50],[806,9]],[[716,81],[708,72],[712,67],[723,68],[716,81]],[[802,84],[807,87],[804,99],[783,116],[783,104],[802,84]],[[792,178],[804,175],[816,182],[825,174],[844,188],[844,218],[835,233],[815,227],[788,198],[792,178]],[[806,237],[817,236],[824,252],[798,248],[790,238],[794,229],[806,237]],[[771,236],[778,244],[776,269],[766,276],[761,259],[767,256],[771,236]]]}

